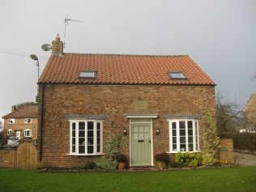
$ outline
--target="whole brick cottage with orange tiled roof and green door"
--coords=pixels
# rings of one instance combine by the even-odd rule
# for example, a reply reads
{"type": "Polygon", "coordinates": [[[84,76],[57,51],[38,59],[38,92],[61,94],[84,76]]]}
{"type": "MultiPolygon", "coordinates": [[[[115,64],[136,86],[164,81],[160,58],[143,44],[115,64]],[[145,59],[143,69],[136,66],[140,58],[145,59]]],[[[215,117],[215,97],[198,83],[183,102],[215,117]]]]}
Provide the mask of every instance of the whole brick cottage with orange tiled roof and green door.
{"type": "Polygon", "coordinates": [[[203,151],[215,83],[189,56],[63,53],[59,36],[39,80],[39,160],[68,167],[105,154],[122,134],[128,166],[203,151]]]}

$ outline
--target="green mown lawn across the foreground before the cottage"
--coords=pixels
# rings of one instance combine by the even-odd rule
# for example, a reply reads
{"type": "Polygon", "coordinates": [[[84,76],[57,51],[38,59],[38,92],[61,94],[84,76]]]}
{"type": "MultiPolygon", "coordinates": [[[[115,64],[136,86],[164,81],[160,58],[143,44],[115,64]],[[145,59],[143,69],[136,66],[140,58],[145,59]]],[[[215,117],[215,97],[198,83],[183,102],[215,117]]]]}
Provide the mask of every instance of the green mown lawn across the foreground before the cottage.
{"type": "Polygon", "coordinates": [[[256,191],[256,167],[122,173],[0,169],[0,191],[256,191]]]}

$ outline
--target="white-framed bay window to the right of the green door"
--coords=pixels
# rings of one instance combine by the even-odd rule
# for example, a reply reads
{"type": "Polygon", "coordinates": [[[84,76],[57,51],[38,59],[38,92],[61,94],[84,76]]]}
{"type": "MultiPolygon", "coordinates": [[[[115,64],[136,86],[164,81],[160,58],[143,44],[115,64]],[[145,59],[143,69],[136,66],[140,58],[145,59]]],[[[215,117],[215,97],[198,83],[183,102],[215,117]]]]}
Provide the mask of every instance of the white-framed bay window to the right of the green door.
{"type": "Polygon", "coordinates": [[[169,120],[170,152],[199,151],[198,120],[169,120]]]}

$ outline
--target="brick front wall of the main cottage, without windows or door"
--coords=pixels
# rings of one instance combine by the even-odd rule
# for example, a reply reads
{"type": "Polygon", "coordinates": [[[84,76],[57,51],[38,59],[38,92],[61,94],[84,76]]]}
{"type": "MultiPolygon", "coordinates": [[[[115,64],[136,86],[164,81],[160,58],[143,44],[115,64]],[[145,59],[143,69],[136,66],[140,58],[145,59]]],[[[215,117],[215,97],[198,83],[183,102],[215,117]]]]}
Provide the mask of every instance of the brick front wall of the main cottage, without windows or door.
{"type": "MultiPolygon", "coordinates": [[[[42,85],[39,92],[41,113],[42,85]]],[[[136,101],[137,102],[137,101],[136,101]]],[[[135,103],[136,103],[135,102],[135,103]]],[[[71,166],[95,160],[96,156],[68,156],[70,149],[70,125],[66,115],[105,114],[103,123],[104,143],[110,134],[122,134],[129,130],[130,121],[124,113],[158,113],[153,119],[153,154],[169,151],[169,114],[215,113],[214,87],[201,86],[89,86],[89,85],[44,85],[44,110],[42,160],[53,166],[71,166]],[[143,100],[143,107],[134,107],[134,100],[143,100]],[[147,105],[146,105],[146,103],[147,105]],[[146,109],[147,108],[147,109],[146,109]],[[156,129],[160,135],[156,136],[156,129]]],[[[39,120],[41,126],[41,119],[39,120]]],[[[203,132],[203,120],[200,132],[203,132]]],[[[41,130],[38,132],[40,138],[41,130]]],[[[122,136],[120,151],[129,156],[130,136],[122,136]]],[[[104,150],[105,151],[105,150],[104,150]]],[[[39,150],[39,154],[41,154],[39,150]]]]}

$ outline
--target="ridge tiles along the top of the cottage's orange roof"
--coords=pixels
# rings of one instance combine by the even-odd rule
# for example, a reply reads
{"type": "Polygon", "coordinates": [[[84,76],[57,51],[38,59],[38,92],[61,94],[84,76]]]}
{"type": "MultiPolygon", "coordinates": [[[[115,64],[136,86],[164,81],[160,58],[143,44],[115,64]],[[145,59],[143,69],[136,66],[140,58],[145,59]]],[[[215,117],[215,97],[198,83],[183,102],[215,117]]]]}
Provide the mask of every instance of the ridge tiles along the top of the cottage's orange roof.
{"type": "Polygon", "coordinates": [[[184,58],[190,57],[188,54],[177,54],[177,55],[154,55],[154,54],[118,54],[118,53],[63,53],[65,54],[75,54],[75,55],[107,55],[107,56],[134,56],[134,57],[152,57],[152,58],[184,58]]]}

